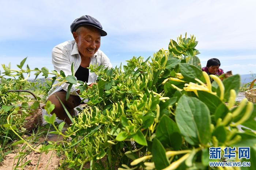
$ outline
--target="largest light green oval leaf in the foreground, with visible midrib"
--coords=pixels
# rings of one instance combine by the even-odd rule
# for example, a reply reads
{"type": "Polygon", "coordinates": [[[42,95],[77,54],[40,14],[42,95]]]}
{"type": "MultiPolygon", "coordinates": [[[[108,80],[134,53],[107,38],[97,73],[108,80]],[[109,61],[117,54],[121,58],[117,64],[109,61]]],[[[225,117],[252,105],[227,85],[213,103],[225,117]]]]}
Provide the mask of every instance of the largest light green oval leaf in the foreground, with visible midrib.
{"type": "Polygon", "coordinates": [[[177,125],[185,140],[191,145],[206,144],[211,138],[210,111],[197,98],[183,95],[178,101],[175,116],[177,125]]]}

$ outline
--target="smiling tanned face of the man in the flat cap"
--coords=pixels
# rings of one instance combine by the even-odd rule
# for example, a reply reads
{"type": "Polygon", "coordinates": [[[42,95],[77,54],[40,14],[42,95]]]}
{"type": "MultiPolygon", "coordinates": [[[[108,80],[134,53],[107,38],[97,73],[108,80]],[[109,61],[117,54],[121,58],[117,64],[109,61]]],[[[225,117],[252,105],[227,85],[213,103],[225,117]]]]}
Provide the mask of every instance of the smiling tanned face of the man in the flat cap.
{"type": "Polygon", "coordinates": [[[80,56],[91,58],[101,46],[101,34],[96,29],[82,27],[79,33],[73,32],[80,56]]]}

